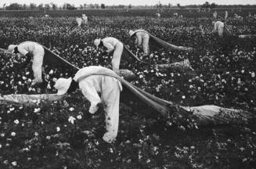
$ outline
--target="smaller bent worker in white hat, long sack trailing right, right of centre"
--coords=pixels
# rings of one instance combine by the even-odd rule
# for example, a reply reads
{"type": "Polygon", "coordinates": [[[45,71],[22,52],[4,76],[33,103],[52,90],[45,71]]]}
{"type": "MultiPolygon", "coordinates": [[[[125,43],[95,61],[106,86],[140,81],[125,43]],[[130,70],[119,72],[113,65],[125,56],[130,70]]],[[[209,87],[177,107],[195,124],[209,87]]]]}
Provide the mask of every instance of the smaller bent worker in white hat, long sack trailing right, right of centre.
{"type": "Polygon", "coordinates": [[[144,30],[137,30],[137,31],[129,31],[129,35],[132,40],[135,42],[135,45],[142,46],[144,56],[150,55],[150,34],[148,34],[144,30]]]}

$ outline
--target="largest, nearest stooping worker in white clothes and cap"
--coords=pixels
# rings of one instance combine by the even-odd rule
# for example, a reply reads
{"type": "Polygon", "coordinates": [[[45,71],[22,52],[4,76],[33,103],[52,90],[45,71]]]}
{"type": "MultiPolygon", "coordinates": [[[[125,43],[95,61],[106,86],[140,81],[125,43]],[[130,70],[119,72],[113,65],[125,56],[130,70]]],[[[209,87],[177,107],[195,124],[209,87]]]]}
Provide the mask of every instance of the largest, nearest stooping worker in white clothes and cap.
{"type": "Polygon", "coordinates": [[[122,91],[121,82],[115,77],[106,75],[93,75],[97,72],[114,74],[113,70],[105,67],[84,67],[78,70],[74,78],[59,78],[54,87],[58,90],[57,95],[74,92],[79,85],[85,98],[91,102],[89,113],[96,113],[99,104],[102,103],[106,111],[106,133],[103,135],[105,142],[114,142],[117,137],[119,123],[119,100],[122,91]],[[101,93],[99,97],[98,93],[101,93]]]}

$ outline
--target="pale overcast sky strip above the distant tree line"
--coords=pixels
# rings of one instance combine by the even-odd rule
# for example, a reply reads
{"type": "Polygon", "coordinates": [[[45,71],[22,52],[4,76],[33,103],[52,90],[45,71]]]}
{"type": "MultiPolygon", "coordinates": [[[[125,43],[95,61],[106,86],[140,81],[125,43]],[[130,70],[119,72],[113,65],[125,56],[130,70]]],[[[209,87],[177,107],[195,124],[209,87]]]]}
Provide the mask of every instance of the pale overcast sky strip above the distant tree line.
{"type": "MultiPolygon", "coordinates": [[[[45,4],[45,3],[50,3],[54,2],[57,5],[63,5],[63,3],[67,2],[70,4],[74,4],[76,6],[81,5],[81,4],[106,4],[106,5],[155,5],[158,2],[161,2],[162,4],[168,4],[171,3],[172,5],[176,5],[179,3],[180,5],[191,5],[191,4],[196,4],[200,5],[206,2],[207,0],[45,0],[45,1],[34,1],[34,0],[0,0],[0,6],[3,4],[9,5],[10,3],[20,3],[20,4],[30,4],[31,2],[35,4],[45,4]]],[[[216,4],[219,5],[236,5],[236,4],[251,4],[251,5],[256,5],[256,0],[215,0],[215,1],[207,1],[210,3],[215,2],[216,4]]]]}

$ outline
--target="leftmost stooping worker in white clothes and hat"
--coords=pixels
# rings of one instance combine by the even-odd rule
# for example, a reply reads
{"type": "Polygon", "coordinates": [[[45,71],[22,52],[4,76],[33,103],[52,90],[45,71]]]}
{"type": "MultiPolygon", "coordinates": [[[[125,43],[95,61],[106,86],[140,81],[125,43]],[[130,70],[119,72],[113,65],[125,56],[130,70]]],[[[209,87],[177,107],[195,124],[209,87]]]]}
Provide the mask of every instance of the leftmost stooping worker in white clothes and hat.
{"type": "Polygon", "coordinates": [[[34,73],[34,80],[32,81],[32,85],[42,82],[41,67],[45,56],[45,49],[42,45],[34,41],[24,41],[19,45],[9,45],[7,51],[27,56],[26,61],[22,64],[23,67],[27,67],[27,64],[30,63],[33,57],[32,70],[34,73]]]}

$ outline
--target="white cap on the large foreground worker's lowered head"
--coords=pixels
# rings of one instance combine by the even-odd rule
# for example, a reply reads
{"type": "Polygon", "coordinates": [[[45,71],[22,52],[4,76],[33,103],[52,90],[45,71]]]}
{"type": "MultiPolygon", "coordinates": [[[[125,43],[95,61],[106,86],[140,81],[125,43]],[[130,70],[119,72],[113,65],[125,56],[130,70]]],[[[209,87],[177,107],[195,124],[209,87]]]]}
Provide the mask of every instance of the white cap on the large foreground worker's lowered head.
{"type": "Polygon", "coordinates": [[[60,77],[54,85],[54,88],[58,90],[57,95],[65,94],[68,88],[70,88],[71,81],[72,81],[71,77],[69,78],[60,77]]]}

